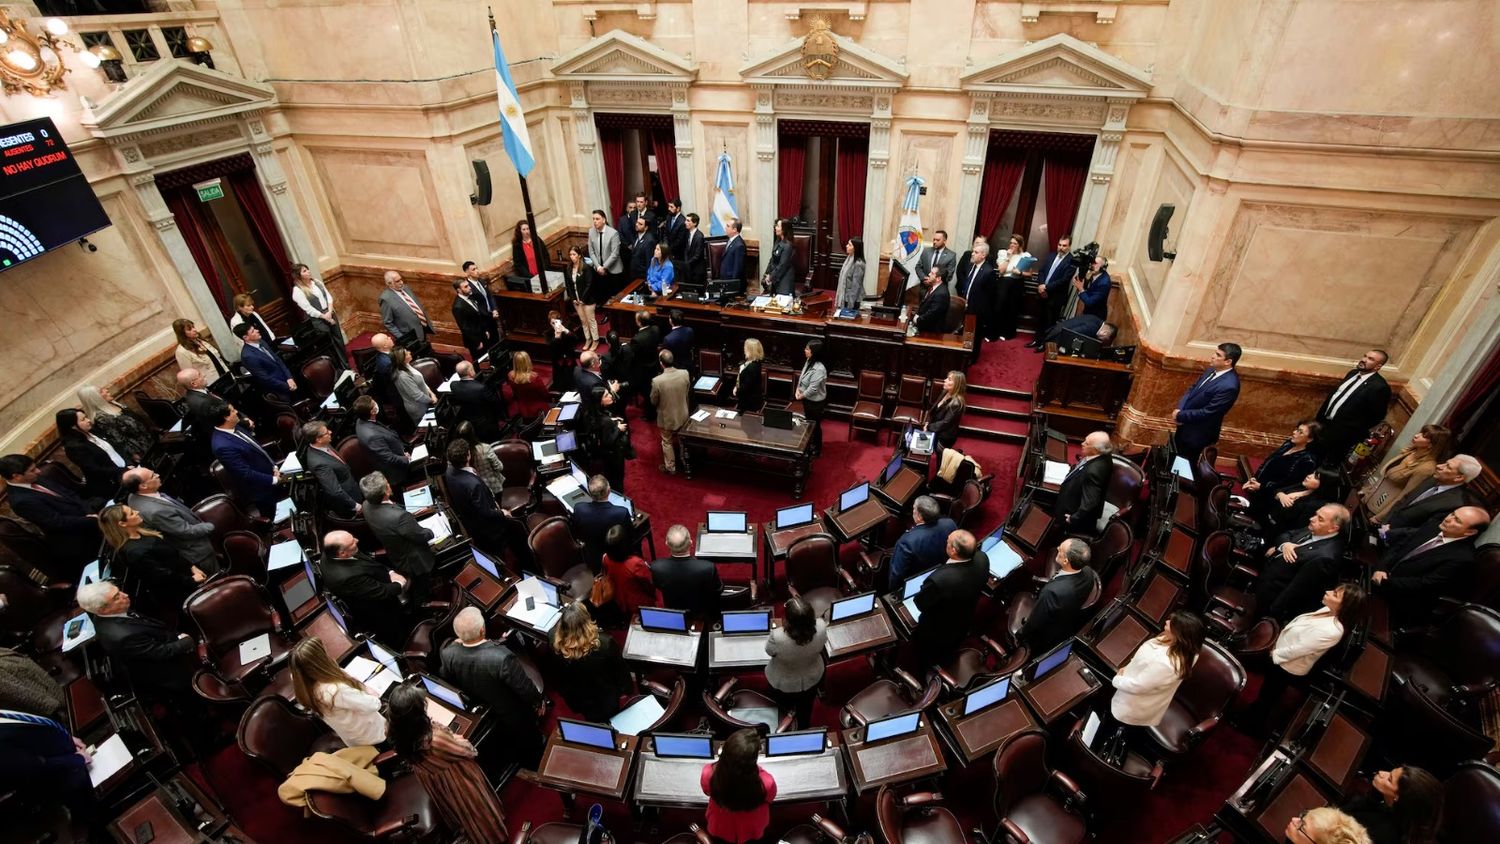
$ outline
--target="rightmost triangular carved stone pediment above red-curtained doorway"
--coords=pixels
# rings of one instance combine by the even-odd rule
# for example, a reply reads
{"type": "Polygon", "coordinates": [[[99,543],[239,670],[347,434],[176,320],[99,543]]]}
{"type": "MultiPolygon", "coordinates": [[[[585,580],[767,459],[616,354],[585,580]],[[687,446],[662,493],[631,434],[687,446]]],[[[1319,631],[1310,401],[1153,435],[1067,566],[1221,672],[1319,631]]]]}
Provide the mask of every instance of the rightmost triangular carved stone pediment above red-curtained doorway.
{"type": "Polygon", "coordinates": [[[1006,91],[1138,99],[1150,76],[1066,33],[984,61],[962,79],[969,91],[1006,91]]]}

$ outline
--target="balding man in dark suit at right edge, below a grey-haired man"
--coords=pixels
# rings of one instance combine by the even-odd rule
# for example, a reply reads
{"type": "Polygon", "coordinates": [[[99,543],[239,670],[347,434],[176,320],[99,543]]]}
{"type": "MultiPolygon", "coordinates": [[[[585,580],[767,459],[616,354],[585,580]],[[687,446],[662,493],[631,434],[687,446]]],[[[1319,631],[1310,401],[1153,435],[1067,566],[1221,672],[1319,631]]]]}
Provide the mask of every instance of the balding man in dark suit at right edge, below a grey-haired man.
{"type": "Polygon", "coordinates": [[[1392,546],[1370,582],[1386,598],[1395,627],[1424,621],[1432,604],[1474,559],[1474,541],[1490,526],[1484,507],[1460,507],[1430,519],[1392,546]]]}

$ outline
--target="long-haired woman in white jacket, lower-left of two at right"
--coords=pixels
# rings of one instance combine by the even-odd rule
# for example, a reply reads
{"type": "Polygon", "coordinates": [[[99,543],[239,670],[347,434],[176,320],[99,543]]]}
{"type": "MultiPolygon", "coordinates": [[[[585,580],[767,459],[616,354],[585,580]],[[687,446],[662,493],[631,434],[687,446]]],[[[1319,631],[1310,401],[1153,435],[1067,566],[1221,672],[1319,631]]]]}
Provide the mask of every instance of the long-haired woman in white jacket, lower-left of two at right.
{"type": "Polygon", "coordinates": [[[1198,658],[1203,636],[1203,619],[1197,615],[1186,610],[1172,613],[1161,636],[1144,642],[1116,672],[1110,717],[1132,727],[1160,724],[1198,658]]]}

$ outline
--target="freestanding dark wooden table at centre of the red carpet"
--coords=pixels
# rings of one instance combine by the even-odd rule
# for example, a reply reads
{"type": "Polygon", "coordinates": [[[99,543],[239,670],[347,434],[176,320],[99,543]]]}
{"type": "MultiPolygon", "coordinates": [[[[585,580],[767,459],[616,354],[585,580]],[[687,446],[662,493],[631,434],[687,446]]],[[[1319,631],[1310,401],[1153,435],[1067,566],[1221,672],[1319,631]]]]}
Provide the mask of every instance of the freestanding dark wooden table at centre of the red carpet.
{"type": "Polygon", "coordinates": [[[792,430],[770,427],[760,421],[760,414],[740,414],[724,420],[714,415],[717,409],[700,405],[699,411],[708,411],[708,418],[688,420],[678,435],[682,442],[682,472],[692,478],[693,463],[699,460],[699,469],[718,469],[722,463],[765,469],[764,463],[771,463],[771,471],[792,475],[792,498],[801,498],[812,471],[813,426],[804,421],[792,430]]]}

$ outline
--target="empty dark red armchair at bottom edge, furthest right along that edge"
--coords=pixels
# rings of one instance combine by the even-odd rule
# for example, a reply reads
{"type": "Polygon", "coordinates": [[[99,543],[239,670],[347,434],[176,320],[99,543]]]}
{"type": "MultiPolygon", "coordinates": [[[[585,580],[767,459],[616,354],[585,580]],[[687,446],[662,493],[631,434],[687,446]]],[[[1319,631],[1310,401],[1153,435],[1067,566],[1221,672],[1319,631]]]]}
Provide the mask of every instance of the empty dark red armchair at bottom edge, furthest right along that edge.
{"type": "Polygon", "coordinates": [[[1083,804],[1078,784],[1047,766],[1046,733],[1017,733],[996,751],[994,814],[1010,840],[1078,844],[1089,837],[1083,804]]]}

